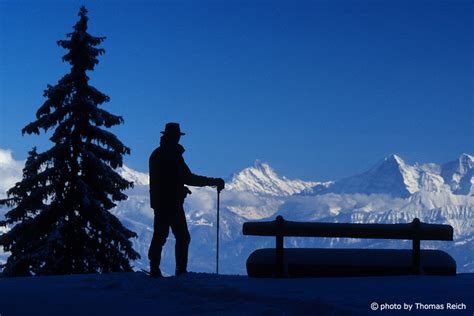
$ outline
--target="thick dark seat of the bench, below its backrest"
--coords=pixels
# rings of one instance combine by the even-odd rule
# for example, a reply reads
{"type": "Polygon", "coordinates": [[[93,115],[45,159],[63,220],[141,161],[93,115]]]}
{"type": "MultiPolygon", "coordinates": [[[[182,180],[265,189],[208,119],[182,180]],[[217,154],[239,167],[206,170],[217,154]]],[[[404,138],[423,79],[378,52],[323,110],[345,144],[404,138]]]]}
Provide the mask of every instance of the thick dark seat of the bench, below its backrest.
{"type": "MultiPolygon", "coordinates": [[[[440,250],[421,250],[423,273],[455,275],[456,261],[440,250]]],[[[371,276],[412,274],[411,249],[286,248],[287,277],[371,276]]],[[[254,251],[247,259],[251,277],[275,276],[275,249],[254,251]]]]}

